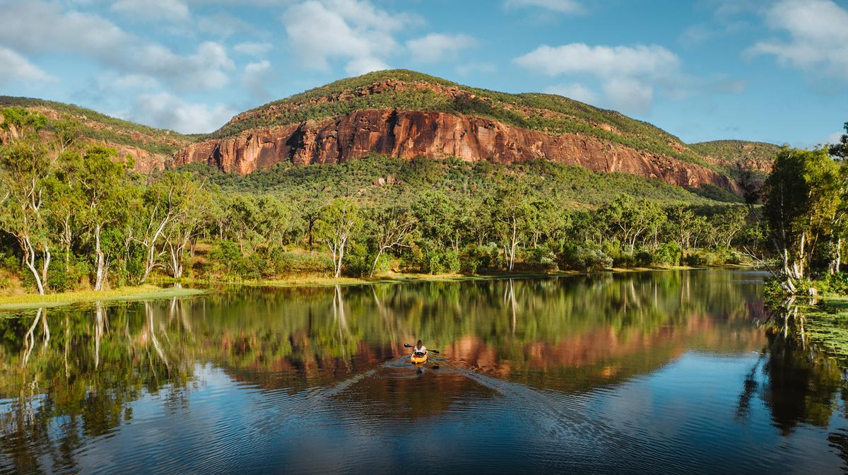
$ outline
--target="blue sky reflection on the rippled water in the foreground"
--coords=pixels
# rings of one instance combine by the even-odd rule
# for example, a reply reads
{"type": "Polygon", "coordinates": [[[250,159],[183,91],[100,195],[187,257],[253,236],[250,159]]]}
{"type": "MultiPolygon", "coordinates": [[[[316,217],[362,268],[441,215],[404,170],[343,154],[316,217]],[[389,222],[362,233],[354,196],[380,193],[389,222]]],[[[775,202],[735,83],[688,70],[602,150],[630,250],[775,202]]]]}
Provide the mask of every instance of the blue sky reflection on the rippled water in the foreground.
{"type": "MultiPolygon", "coordinates": [[[[168,390],[146,394],[131,403],[130,422],[89,441],[76,458],[82,472],[838,470],[840,460],[825,449],[827,431],[801,426],[781,436],[759,396],[746,419],[736,417],[756,362],[754,354],[689,352],[628,383],[578,395],[443,366],[404,390],[448,397],[427,386],[438,377],[467,378],[485,390],[417,418],[399,416],[409,410],[399,407],[406,400],[382,401],[377,411],[371,405],[380,401],[358,393],[387,384],[379,380],[388,377],[385,366],[299,392],[263,391],[198,366],[184,400],[168,390]]],[[[845,420],[834,416],[832,426],[845,420]]]]}

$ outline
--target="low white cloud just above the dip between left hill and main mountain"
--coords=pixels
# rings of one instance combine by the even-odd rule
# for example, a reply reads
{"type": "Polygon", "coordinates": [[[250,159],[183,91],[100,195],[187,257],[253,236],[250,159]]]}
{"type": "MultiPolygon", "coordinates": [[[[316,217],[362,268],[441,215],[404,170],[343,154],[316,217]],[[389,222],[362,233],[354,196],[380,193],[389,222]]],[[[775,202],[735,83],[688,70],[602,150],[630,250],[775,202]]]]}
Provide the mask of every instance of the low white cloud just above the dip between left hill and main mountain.
{"type": "Polygon", "coordinates": [[[127,119],[182,133],[211,132],[234,115],[224,104],[187,103],[168,92],[142,94],[127,119]]]}

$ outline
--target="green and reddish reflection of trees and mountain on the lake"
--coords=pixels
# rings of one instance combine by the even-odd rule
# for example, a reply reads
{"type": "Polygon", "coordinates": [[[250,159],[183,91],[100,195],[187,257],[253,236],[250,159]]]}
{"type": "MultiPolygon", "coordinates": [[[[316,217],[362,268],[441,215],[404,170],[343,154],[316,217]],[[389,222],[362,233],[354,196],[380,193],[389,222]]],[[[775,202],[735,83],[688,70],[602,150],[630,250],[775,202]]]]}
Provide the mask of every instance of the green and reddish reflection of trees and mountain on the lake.
{"type": "MultiPolygon", "coordinates": [[[[142,395],[161,391],[166,404],[186,404],[185,385],[198,363],[295,391],[361,374],[405,354],[402,343],[415,338],[455,365],[531,386],[572,391],[616,383],[700,344],[759,347],[762,336],[749,317],[760,288],[737,278],[661,272],[255,289],[50,310],[50,338],[42,312],[32,321],[4,319],[0,398],[17,402],[0,421],[4,434],[14,434],[0,442],[0,453],[20,454],[15,467],[39,467],[44,456],[73,467],[83,441],[131,419],[131,403],[142,395]],[[59,433],[47,430],[56,417],[70,421],[59,433]]],[[[446,384],[445,394],[468,390],[425,372],[427,378],[446,384]]],[[[350,388],[384,404],[414,403],[420,413],[410,416],[444,410],[446,399],[415,399],[427,391],[405,394],[415,385],[369,379],[350,388]]]]}

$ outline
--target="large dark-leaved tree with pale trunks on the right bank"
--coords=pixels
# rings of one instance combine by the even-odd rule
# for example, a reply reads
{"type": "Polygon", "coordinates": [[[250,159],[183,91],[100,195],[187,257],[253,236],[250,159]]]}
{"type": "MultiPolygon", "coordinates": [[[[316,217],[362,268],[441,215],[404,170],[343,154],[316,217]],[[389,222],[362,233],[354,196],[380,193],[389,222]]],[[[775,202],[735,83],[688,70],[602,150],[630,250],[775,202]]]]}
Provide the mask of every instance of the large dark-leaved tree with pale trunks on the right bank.
{"type": "Polygon", "coordinates": [[[828,150],[783,148],[763,185],[763,216],[790,293],[806,276],[813,251],[833,230],[840,207],[840,168],[828,150]]]}

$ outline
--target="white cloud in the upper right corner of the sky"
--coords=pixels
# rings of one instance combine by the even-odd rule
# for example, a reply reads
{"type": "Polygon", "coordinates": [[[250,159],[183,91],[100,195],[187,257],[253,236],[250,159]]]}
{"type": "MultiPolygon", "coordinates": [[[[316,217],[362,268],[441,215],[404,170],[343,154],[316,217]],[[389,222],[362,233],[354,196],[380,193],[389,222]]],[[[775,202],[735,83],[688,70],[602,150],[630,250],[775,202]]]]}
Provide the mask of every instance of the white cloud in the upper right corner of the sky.
{"type": "Polygon", "coordinates": [[[751,55],[769,54],[784,66],[824,70],[848,80],[848,11],[831,0],[783,0],[764,10],[766,24],[788,40],[757,42],[751,55]]]}

